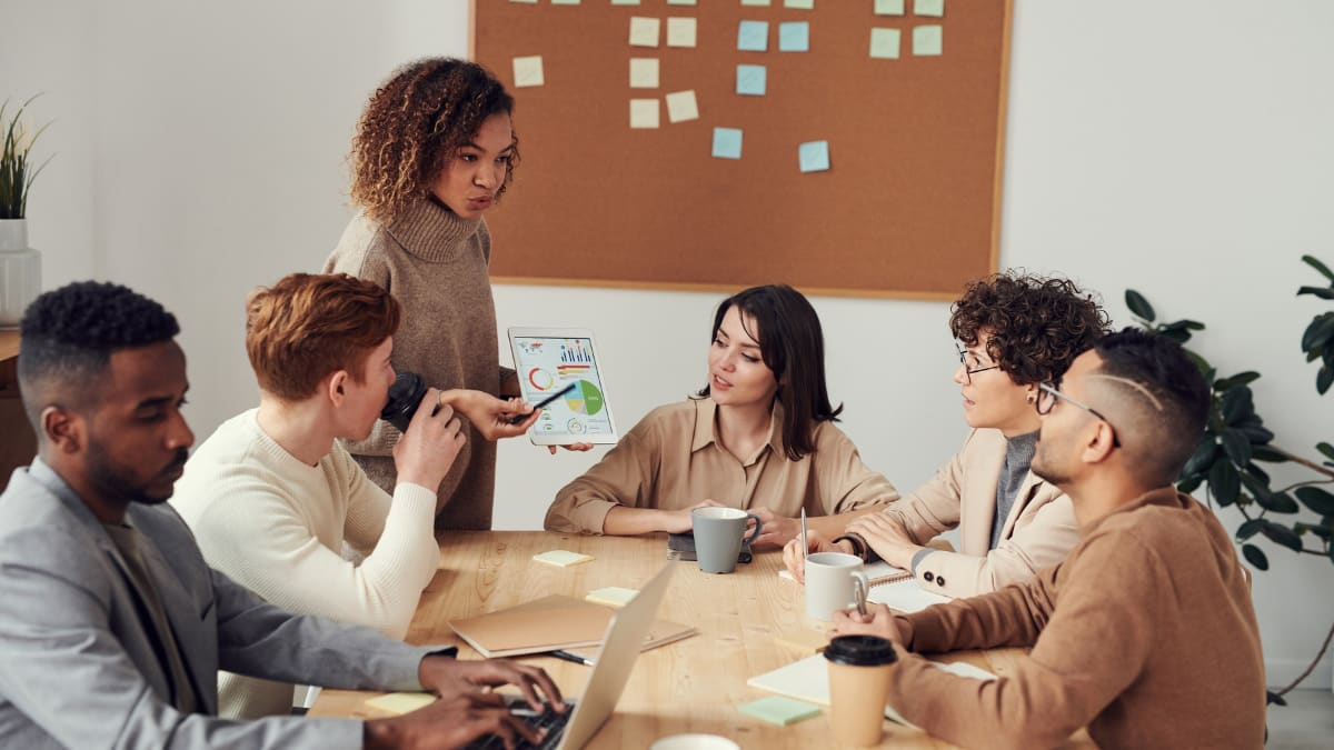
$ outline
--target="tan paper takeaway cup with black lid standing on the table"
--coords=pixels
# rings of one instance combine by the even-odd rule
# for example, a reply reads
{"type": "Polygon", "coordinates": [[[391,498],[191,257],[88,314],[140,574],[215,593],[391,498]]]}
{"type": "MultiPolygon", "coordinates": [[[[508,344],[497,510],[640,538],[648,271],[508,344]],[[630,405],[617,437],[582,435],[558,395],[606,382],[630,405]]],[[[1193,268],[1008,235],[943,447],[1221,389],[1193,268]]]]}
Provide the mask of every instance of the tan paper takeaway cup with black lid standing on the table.
{"type": "Polygon", "coordinates": [[[838,745],[880,743],[894,646],[875,635],[840,635],[824,649],[830,670],[830,719],[838,745]]]}

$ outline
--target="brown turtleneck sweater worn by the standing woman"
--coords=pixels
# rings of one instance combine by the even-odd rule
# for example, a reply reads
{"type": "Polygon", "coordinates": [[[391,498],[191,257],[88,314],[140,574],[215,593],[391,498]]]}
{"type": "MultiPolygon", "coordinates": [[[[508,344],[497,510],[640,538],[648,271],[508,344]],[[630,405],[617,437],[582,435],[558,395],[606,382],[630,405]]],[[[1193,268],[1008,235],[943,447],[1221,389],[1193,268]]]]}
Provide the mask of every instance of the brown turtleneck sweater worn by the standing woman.
{"type": "MultiPolygon", "coordinates": [[[[394,368],[411,370],[438,388],[492,395],[511,372],[500,367],[495,302],[487,264],[491,232],[482,219],[460,219],[420,200],[388,227],[352,219],[324,272],[351,274],[387,288],[403,304],[394,336],[394,368]]],[[[496,446],[464,420],[467,443],[440,483],[438,528],[491,528],[496,446]]],[[[348,442],[367,476],[387,492],[396,471],[391,451],[400,432],[376,422],[371,436],[348,442]]]]}

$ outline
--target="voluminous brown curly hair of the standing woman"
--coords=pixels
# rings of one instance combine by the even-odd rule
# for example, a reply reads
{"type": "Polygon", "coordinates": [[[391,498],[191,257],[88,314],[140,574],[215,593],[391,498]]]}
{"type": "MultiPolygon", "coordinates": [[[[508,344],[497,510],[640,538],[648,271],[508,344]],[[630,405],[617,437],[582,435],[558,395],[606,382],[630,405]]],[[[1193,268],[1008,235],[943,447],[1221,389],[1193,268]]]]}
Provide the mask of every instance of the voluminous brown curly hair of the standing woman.
{"type": "MultiPolygon", "coordinates": [[[[454,57],[408,63],[382,85],[362,112],[352,137],[352,202],[388,223],[419,198],[460,147],[492,115],[512,115],[514,97],[482,65],[454,57]]],[[[519,165],[519,136],[496,191],[499,199],[519,165]]]]}

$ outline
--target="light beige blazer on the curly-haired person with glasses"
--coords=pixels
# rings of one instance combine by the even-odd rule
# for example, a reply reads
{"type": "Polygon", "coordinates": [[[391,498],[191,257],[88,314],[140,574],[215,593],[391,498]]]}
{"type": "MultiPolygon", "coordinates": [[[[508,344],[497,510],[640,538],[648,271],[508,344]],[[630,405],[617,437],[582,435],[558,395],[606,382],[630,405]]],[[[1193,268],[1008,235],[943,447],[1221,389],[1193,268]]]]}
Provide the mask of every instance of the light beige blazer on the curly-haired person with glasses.
{"type": "Polygon", "coordinates": [[[972,597],[1030,581],[1066,558],[1079,540],[1070,498],[1031,471],[991,546],[996,486],[1006,439],[999,430],[974,430],[935,478],[890,504],[890,514],[918,544],[959,527],[959,551],[936,551],[916,566],[918,583],[948,597],[972,597]]]}

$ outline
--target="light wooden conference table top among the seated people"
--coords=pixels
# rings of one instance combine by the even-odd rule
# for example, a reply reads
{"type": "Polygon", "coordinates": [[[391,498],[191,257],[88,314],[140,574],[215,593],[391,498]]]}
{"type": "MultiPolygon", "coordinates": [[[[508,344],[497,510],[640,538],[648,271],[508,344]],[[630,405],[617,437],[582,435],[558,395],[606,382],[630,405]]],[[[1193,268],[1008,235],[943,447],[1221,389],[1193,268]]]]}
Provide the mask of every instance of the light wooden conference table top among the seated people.
{"type": "MultiPolygon", "coordinates": [[[[588,747],[648,747],[668,734],[720,734],[742,747],[827,747],[832,729],[826,710],[819,717],[779,727],[738,711],[770,695],[746,685],[810,655],[776,643],[774,637],[799,629],[824,627],[806,617],[803,590],[780,579],[782,552],[755,555],[730,575],[700,573],[692,562],[667,562],[666,535],[639,538],[579,536],[543,531],[448,532],[440,544],[440,570],[427,586],[408,630],[410,643],[454,643],[460,658],[478,654],[450,626],[451,619],[484,614],[550,594],[583,598],[594,589],[639,589],[663,566],[676,566],[658,615],[691,625],[698,633],[684,641],[644,651],[635,665],[616,713],[588,747]],[[558,569],[532,560],[548,550],[592,555],[588,563],[558,569]]],[[[960,651],[942,661],[966,661],[1003,675],[1018,649],[960,651]]],[[[579,697],[590,667],[551,657],[524,657],[546,669],[570,697],[579,697]]],[[[324,690],[309,715],[376,718],[387,715],[366,706],[378,693],[324,690]]],[[[892,722],[884,723],[883,746],[952,747],[892,722]]],[[[1071,747],[1093,747],[1081,731],[1071,747]]]]}

